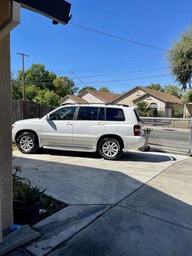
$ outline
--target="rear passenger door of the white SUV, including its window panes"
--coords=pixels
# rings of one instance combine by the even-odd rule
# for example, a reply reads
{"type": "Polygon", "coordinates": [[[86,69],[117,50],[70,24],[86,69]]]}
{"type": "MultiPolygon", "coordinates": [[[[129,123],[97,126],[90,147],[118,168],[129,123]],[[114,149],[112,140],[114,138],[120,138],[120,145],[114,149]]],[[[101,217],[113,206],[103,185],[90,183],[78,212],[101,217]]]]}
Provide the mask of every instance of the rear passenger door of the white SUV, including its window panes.
{"type": "Polygon", "coordinates": [[[106,129],[105,109],[94,106],[80,106],[74,121],[74,144],[83,148],[95,148],[97,138],[106,129]]]}

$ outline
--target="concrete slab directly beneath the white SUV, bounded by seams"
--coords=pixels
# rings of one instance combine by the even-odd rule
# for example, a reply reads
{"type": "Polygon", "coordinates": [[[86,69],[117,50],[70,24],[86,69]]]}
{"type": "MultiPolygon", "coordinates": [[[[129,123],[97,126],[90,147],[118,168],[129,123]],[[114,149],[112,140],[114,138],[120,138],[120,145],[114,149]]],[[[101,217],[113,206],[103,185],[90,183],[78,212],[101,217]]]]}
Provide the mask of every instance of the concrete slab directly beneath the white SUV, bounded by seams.
{"type": "Polygon", "coordinates": [[[119,161],[95,154],[42,150],[41,154],[13,153],[13,164],[22,164],[22,175],[32,184],[66,204],[116,204],[185,159],[161,153],[127,152],[119,161]]]}

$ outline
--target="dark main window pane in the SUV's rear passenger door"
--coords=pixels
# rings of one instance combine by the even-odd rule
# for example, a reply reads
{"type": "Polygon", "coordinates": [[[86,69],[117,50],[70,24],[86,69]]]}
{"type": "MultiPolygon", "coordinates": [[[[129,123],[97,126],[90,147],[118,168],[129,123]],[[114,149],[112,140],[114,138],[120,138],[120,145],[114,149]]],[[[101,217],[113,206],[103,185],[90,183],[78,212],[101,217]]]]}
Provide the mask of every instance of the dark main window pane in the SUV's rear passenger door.
{"type": "Polygon", "coordinates": [[[80,107],[77,120],[97,120],[99,108],[95,107],[80,107]]]}

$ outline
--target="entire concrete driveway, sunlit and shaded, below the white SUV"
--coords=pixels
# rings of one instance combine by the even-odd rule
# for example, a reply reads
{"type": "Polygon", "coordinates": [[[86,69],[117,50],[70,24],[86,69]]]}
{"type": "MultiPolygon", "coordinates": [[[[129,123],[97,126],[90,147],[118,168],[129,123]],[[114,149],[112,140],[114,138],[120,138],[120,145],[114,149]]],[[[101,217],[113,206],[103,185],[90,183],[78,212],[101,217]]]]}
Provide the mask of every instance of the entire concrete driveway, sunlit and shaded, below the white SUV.
{"type": "Polygon", "coordinates": [[[119,161],[51,150],[13,155],[24,177],[70,205],[36,225],[44,235],[26,247],[33,255],[191,255],[191,158],[136,151],[119,161]]]}

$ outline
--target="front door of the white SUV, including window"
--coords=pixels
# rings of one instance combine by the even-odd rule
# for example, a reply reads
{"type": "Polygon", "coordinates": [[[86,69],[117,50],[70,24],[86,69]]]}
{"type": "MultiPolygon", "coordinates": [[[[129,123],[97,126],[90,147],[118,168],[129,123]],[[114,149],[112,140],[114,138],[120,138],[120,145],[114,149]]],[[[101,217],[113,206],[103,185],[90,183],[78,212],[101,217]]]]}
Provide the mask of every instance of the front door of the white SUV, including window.
{"type": "Polygon", "coordinates": [[[72,133],[75,112],[75,106],[63,107],[44,120],[41,128],[44,146],[65,147],[74,144],[72,133]]]}

